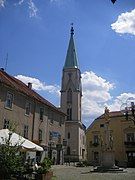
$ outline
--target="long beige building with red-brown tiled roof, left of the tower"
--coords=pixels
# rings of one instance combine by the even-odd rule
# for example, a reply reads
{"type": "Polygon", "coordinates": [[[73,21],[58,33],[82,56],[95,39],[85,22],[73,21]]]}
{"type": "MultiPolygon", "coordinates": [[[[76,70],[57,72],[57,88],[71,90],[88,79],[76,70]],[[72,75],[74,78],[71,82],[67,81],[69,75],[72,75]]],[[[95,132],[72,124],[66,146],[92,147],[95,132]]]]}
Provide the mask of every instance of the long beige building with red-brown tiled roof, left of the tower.
{"type": "MultiPolygon", "coordinates": [[[[32,84],[0,70],[0,129],[15,127],[23,137],[44,148],[44,156],[63,163],[65,114],[32,90],[32,84]]],[[[41,154],[37,152],[37,157],[41,154]]]]}

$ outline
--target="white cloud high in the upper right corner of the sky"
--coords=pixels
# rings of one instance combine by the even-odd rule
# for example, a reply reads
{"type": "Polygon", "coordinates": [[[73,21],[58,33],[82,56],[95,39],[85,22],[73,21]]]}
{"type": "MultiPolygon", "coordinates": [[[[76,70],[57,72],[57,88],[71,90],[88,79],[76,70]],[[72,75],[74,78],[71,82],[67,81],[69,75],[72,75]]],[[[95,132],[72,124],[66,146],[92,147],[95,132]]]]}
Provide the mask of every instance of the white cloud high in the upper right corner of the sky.
{"type": "Polygon", "coordinates": [[[119,15],[117,21],[111,24],[111,27],[117,33],[135,35],[135,9],[119,15]]]}

